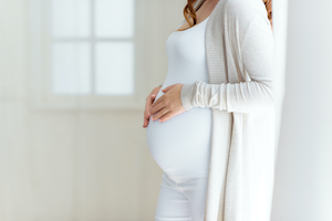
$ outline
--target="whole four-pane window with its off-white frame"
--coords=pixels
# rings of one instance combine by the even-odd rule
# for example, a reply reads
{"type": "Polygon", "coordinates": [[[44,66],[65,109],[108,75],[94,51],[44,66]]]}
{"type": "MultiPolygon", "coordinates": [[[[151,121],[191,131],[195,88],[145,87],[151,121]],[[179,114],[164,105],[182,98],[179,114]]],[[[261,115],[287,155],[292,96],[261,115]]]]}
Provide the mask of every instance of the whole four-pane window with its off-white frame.
{"type": "Polygon", "coordinates": [[[135,0],[30,0],[37,105],[142,107],[138,9],[135,0]]]}

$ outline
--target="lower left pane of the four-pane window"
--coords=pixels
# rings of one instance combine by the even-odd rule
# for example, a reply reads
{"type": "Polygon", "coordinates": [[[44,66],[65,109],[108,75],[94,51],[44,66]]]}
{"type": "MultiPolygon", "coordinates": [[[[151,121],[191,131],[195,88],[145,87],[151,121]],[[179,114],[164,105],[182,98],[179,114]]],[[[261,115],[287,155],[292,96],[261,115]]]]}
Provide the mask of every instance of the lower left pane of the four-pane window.
{"type": "Polygon", "coordinates": [[[54,94],[91,93],[91,50],[85,42],[62,42],[52,46],[54,94]]]}

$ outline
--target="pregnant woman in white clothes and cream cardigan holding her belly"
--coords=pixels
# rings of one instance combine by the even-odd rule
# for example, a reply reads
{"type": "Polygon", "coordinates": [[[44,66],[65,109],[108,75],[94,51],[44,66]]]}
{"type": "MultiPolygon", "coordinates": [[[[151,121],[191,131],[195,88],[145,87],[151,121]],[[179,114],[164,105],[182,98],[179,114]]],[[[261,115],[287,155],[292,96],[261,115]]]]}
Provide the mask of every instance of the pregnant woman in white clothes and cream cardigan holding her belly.
{"type": "Polygon", "coordinates": [[[166,80],[144,114],[164,171],[155,221],[269,221],[271,1],[188,0],[184,14],[166,41],[166,80]]]}

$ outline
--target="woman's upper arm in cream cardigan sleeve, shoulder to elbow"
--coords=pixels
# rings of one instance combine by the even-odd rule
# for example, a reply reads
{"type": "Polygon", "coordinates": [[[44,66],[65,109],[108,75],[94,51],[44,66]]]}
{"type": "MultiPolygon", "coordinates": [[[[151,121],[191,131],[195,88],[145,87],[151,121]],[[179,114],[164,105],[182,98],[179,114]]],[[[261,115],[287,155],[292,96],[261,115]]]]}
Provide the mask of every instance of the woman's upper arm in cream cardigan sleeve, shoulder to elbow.
{"type": "Polygon", "coordinates": [[[229,0],[226,8],[231,44],[251,81],[273,84],[273,33],[262,0],[229,0]]]}

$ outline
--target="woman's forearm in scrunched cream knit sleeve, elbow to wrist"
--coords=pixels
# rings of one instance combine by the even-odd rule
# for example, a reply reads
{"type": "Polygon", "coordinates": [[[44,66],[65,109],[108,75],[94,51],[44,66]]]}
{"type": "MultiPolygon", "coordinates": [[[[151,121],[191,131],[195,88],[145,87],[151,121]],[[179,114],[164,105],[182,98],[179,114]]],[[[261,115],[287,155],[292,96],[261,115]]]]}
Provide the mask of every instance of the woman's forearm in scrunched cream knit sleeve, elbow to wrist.
{"type": "Polygon", "coordinates": [[[196,81],[184,84],[180,99],[186,110],[210,107],[227,112],[263,112],[274,107],[271,83],[256,81],[208,84],[196,81]]]}

